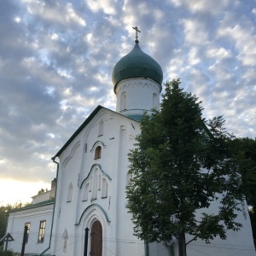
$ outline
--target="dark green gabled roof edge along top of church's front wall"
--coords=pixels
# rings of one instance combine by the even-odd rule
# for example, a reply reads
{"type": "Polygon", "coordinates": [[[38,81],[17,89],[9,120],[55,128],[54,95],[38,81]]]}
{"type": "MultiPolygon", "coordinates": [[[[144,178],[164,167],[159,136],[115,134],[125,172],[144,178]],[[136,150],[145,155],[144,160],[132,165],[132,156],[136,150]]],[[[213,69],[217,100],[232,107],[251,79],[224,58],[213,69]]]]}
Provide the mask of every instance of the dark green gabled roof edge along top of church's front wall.
{"type": "Polygon", "coordinates": [[[115,112],[115,111],[113,111],[113,110],[111,110],[111,109],[109,109],[109,108],[104,108],[104,107],[102,107],[102,106],[99,105],[92,113],[90,113],[89,117],[88,117],[87,119],[85,119],[84,123],[79,126],[79,129],[73,133],[73,136],[70,137],[70,138],[67,140],[67,143],[64,144],[64,146],[58,151],[57,154],[55,154],[55,156],[54,156],[52,159],[55,159],[55,157],[59,157],[59,156],[61,155],[61,153],[67,148],[67,146],[68,146],[70,143],[73,142],[73,139],[79,135],[79,133],[84,129],[84,127],[90,123],[90,120],[93,119],[93,118],[96,116],[96,113],[98,113],[98,112],[100,111],[100,109],[102,109],[102,108],[103,108],[103,109],[106,109],[106,110],[108,110],[108,111],[110,111],[110,112],[113,112],[113,113],[115,113],[115,114],[119,114],[119,115],[122,116],[123,118],[131,119],[131,120],[133,120],[133,121],[138,122],[136,119],[132,119],[132,118],[126,117],[126,116],[122,115],[121,113],[117,113],[117,112],[115,112]]]}

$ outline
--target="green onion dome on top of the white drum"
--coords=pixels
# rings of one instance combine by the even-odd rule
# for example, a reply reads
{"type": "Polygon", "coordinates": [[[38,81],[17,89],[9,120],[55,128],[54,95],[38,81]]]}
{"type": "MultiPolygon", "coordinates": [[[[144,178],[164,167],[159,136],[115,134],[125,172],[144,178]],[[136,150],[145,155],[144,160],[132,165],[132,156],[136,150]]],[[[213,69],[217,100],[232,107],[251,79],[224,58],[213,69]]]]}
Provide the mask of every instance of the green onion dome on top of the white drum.
{"type": "Polygon", "coordinates": [[[163,72],[160,65],[152,57],[143,53],[138,43],[135,44],[128,55],[121,58],[113,67],[114,92],[121,80],[131,78],[152,79],[158,84],[163,81],[163,72]]]}

